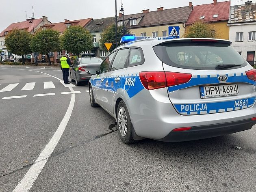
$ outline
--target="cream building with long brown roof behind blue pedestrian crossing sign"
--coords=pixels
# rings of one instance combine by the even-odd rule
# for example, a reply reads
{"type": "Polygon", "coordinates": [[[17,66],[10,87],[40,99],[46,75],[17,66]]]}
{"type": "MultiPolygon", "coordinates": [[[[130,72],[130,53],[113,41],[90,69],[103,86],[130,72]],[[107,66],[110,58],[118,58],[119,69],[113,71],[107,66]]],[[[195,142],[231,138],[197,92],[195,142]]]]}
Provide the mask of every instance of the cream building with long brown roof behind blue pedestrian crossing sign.
{"type": "Polygon", "coordinates": [[[142,13],[124,16],[119,13],[117,22],[118,26],[122,26],[124,20],[124,26],[135,36],[168,37],[171,33],[170,29],[178,27],[179,34],[177,37],[182,37],[185,31],[185,23],[192,9],[193,5],[190,2],[189,6],[174,9],[159,7],[157,11],[146,9],[142,13]]]}

